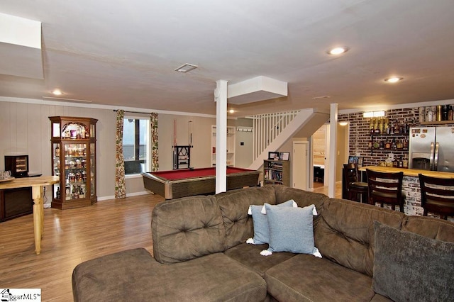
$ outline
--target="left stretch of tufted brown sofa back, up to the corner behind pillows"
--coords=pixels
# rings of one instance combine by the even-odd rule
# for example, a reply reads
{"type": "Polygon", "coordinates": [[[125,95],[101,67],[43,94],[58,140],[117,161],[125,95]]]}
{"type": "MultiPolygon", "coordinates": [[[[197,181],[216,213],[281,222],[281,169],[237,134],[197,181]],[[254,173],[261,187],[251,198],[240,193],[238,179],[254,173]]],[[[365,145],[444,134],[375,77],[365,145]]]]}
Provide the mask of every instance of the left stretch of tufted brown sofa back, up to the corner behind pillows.
{"type": "Polygon", "coordinates": [[[251,204],[275,204],[272,186],[164,201],[153,209],[153,255],[175,263],[223,252],[253,237],[251,204]]]}

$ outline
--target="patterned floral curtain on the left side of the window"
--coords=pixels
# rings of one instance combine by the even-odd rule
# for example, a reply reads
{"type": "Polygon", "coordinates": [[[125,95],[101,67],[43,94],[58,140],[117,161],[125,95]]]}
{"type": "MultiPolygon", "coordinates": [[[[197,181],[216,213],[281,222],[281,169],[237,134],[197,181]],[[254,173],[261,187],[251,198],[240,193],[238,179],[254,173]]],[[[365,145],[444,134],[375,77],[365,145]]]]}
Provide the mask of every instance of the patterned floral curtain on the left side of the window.
{"type": "Polygon", "coordinates": [[[116,111],[115,198],[126,197],[125,158],[123,156],[123,118],[125,111],[116,111]]]}

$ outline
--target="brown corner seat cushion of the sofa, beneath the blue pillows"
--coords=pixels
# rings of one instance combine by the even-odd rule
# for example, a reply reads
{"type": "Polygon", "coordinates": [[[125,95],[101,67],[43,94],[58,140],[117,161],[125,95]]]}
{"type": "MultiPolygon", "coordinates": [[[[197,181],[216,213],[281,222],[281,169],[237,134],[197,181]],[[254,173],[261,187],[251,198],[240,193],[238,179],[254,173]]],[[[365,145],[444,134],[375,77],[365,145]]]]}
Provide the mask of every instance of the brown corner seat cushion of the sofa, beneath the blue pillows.
{"type": "Polygon", "coordinates": [[[267,249],[268,245],[248,245],[241,243],[226,250],[224,254],[236,261],[244,264],[246,267],[253,269],[260,276],[265,276],[265,272],[270,267],[284,262],[287,259],[294,257],[295,254],[291,252],[277,252],[273,255],[263,257],[260,255],[262,250],[267,249]]]}

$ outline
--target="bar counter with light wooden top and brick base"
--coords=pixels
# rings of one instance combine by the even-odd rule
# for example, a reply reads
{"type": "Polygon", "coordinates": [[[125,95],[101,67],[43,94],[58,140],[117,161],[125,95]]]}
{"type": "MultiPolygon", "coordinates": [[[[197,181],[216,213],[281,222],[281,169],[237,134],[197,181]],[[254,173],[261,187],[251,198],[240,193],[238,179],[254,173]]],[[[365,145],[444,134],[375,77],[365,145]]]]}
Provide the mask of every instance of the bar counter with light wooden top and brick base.
{"type": "MultiPolygon", "coordinates": [[[[454,173],[428,171],[420,169],[405,169],[397,167],[380,167],[380,166],[367,166],[358,168],[362,173],[362,181],[366,181],[366,169],[371,169],[377,172],[404,172],[404,179],[402,181],[402,193],[405,195],[404,213],[406,215],[423,215],[423,208],[421,207],[421,187],[419,186],[418,174],[428,175],[430,177],[441,178],[454,178],[454,173]]],[[[387,205],[384,207],[390,208],[387,205]]],[[[397,211],[399,207],[397,207],[397,211]]],[[[428,213],[428,216],[440,218],[440,216],[428,213]]],[[[448,216],[448,220],[454,222],[454,217],[448,216]]]]}

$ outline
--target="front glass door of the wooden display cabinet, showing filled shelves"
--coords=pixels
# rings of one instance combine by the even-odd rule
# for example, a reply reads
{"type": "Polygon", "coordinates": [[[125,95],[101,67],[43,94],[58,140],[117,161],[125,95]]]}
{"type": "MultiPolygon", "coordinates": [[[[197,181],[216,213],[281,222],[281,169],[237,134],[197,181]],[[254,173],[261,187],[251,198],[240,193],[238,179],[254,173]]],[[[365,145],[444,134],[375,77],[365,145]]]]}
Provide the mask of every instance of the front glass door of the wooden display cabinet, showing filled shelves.
{"type": "Polygon", "coordinates": [[[65,199],[85,198],[87,192],[87,144],[65,144],[65,199]]]}

